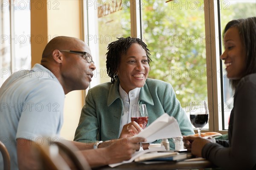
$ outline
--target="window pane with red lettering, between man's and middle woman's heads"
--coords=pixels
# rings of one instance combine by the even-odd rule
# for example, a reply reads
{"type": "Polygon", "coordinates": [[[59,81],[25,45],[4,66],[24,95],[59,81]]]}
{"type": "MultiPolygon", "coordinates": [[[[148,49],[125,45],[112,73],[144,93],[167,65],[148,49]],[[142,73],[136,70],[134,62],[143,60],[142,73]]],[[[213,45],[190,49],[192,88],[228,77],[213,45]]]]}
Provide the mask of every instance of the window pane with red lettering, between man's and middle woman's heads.
{"type": "Polygon", "coordinates": [[[91,48],[96,70],[94,82],[90,87],[103,82],[109,82],[110,78],[106,68],[106,52],[108,44],[120,37],[131,36],[131,17],[129,0],[87,0],[85,1],[85,40],[91,48]],[[89,27],[87,27],[87,23],[89,27]]]}

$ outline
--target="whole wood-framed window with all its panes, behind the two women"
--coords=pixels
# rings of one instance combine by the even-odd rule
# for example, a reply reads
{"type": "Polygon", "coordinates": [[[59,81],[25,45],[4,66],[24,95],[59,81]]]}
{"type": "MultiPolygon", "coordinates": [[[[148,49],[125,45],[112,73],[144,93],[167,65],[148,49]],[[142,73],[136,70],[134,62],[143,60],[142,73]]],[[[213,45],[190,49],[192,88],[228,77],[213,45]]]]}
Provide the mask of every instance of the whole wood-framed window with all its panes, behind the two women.
{"type": "Polygon", "coordinates": [[[84,2],[85,39],[97,62],[93,86],[111,80],[105,66],[108,43],[141,37],[153,59],[149,78],[172,84],[188,113],[190,103],[207,101],[209,125],[202,132],[227,133],[233,94],[219,59],[221,32],[230,20],[256,16],[255,0],[84,2]]]}

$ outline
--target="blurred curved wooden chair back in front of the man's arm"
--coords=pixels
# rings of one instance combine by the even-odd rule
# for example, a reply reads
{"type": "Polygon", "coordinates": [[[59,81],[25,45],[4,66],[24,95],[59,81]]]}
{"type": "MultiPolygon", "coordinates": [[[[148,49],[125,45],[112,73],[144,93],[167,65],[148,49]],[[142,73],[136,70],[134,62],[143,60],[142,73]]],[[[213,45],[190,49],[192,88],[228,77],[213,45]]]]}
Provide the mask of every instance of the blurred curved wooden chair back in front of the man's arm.
{"type": "Polygon", "coordinates": [[[72,142],[44,142],[36,145],[39,150],[41,169],[51,170],[90,170],[90,166],[78,148],[72,142]]]}

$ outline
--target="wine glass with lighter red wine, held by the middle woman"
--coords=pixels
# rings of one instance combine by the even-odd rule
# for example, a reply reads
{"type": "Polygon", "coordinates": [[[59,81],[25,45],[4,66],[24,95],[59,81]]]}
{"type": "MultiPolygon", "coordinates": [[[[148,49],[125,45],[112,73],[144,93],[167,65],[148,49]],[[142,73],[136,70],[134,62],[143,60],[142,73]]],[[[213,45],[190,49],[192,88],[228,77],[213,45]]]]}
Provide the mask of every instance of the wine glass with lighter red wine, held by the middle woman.
{"type": "MultiPolygon", "coordinates": [[[[131,112],[131,122],[135,121],[139,125],[143,125],[143,129],[148,124],[148,111],[145,104],[136,105],[135,111],[131,112]]],[[[142,142],[140,142],[140,150],[143,151],[142,142]]]]}

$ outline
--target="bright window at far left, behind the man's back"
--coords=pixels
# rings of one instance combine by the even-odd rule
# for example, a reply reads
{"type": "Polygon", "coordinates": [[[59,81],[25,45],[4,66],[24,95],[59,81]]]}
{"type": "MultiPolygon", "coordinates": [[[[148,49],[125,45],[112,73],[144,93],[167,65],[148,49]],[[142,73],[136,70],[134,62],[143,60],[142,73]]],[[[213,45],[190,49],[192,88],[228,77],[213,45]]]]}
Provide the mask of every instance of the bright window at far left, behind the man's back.
{"type": "Polygon", "coordinates": [[[1,1],[1,81],[15,71],[31,68],[29,1],[1,1]]]}

